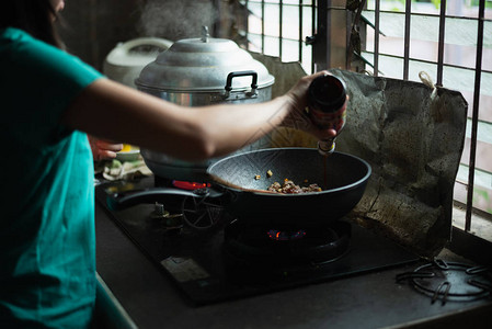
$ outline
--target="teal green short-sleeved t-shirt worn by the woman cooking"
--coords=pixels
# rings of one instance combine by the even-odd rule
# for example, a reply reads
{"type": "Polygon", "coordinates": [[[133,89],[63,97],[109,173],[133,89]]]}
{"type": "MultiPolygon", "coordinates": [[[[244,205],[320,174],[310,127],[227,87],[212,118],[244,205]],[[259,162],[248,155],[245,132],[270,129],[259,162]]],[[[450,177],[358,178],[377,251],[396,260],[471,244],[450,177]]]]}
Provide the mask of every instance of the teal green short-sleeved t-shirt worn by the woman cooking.
{"type": "Polygon", "coordinates": [[[93,162],[60,117],[102,77],[0,30],[0,328],[84,328],[95,300],[93,162]]]}

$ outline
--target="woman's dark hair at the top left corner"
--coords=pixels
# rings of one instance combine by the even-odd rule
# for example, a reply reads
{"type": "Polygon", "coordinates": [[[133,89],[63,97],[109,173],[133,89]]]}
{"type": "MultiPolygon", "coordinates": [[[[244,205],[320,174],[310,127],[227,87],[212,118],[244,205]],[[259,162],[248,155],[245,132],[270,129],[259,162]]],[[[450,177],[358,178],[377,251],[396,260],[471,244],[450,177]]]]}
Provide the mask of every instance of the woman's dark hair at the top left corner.
{"type": "Polygon", "coordinates": [[[57,13],[49,0],[7,0],[2,1],[0,9],[0,29],[21,29],[36,38],[64,48],[54,22],[57,13]]]}

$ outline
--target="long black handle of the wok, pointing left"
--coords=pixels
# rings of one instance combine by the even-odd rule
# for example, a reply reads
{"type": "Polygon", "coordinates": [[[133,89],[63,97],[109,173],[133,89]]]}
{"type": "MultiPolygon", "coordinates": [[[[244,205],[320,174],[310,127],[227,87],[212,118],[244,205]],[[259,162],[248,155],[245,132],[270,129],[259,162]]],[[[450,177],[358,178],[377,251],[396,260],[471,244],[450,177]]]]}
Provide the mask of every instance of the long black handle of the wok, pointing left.
{"type": "Polygon", "coordinates": [[[184,197],[219,197],[221,193],[209,189],[198,189],[195,191],[185,191],[169,188],[155,188],[130,193],[110,193],[106,196],[106,205],[111,211],[121,211],[142,203],[167,203],[172,200],[182,200],[184,197]]]}

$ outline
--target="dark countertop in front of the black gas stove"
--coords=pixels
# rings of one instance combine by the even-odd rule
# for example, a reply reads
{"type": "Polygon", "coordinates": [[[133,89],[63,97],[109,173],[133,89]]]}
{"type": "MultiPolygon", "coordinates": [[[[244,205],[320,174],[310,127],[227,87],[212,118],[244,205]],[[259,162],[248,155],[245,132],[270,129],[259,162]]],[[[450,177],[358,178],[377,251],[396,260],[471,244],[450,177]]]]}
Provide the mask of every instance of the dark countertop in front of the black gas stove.
{"type": "Polygon", "coordinates": [[[96,205],[98,273],[139,328],[490,328],[492,299],[431,303],[398,273],[415,263],[192,306],[96,205]]]}

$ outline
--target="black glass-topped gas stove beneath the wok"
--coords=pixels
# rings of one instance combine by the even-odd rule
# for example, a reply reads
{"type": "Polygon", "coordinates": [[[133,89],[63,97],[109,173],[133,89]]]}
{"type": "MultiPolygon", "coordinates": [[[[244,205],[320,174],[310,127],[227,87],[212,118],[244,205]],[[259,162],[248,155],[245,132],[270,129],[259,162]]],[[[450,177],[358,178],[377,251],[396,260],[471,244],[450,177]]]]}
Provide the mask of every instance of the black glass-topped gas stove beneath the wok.
{"type": "Polygon", "coordinates": [[[193,305],[294,288],[419,260],[396,242],[344,218],[322,227],[278,227],[268,224],[268,218],[233,217],[217,200],[196,202],[190,197],[171,197],[169,202],[160,198],[118,211],[107,206],[107,196],[114,191],[131,193],[163,184],[179,185],[155,177],[107,182],[96,186],[96,201],[161,270],[163,280],[172,281],[193,305]]]}

